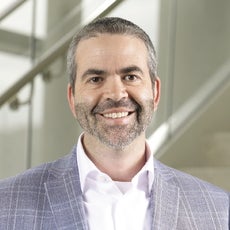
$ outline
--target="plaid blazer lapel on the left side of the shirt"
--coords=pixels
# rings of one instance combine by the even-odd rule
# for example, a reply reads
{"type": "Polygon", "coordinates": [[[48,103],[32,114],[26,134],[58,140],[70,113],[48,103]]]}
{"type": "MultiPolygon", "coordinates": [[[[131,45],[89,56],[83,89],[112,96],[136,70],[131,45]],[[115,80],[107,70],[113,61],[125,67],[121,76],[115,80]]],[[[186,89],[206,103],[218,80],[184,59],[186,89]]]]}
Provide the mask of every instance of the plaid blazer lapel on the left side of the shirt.
{"type": "Polygon", "coordinates": [[[53,167],[45,189],[57,229],[88,230],[80,180],[77,171],[76,155],[69,157],[70,165],[62,165],[59,170],[53,167]],[[74,163],[73,163],[74,162],[74,163]]]}

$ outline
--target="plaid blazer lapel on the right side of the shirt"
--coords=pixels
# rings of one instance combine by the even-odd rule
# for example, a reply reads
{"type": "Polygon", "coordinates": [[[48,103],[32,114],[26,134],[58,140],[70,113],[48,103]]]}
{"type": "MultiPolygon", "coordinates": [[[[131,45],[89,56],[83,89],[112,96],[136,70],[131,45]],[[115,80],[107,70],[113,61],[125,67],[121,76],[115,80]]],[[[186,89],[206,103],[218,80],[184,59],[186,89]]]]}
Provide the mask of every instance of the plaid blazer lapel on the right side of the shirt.
{"type": "MultiPolygon", "coordinates": [[[[156,162],[158,164],[158,162],[156,162]]],[[[179,188],[167,181],[163,171],[155,169],[150,207],[153,212],[152,229],[174,230],[179,211],[179,188]]]]}

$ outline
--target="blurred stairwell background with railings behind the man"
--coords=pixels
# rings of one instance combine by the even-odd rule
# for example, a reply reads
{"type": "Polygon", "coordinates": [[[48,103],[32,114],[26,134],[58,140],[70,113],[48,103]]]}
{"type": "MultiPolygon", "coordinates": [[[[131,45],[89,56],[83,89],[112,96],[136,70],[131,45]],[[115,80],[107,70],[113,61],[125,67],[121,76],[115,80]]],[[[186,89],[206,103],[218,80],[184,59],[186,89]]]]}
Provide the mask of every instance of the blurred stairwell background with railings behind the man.
{"type": "Polygon", "coordinates": [[[155,157],[230,190],[230,1],[8,0],[0,5],[0,178],[69,153],[66,50],[101,16],[142,27],[158,54],[155,157]]]}

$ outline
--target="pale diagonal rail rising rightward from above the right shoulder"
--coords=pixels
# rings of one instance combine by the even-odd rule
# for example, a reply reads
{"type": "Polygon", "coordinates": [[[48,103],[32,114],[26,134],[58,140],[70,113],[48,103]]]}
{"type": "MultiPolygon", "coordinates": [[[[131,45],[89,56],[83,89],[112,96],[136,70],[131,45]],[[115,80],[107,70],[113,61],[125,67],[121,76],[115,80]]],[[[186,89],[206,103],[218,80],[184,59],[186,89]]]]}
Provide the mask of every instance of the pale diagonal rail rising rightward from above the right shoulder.
{"type": "Polygon", "coordinates": [[[230,86],[230,60],[224,63],[218,71],[209,78],[194,96],[186,101],[148,138],[157,158],[161,157],[162,147],[165,143],[183,133],[186,128],[202,114],[202,112],[222,92],[223,88],[230,86]]]}

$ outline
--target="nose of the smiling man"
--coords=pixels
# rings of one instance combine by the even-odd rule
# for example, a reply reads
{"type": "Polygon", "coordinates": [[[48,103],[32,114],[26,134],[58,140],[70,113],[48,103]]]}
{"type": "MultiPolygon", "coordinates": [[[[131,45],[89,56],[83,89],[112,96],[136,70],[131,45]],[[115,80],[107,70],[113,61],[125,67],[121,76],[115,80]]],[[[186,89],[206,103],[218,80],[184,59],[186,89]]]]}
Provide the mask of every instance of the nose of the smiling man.
{"type": "Polygon", "coordinates": [[[107,79],[104,97],[104,99],[112,99],[114,101],[119,101],[128,97],[126,86],[119,76],[107,79]]]}

